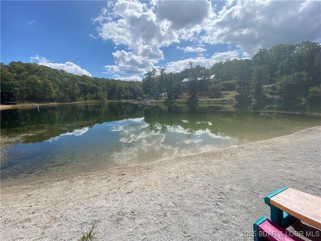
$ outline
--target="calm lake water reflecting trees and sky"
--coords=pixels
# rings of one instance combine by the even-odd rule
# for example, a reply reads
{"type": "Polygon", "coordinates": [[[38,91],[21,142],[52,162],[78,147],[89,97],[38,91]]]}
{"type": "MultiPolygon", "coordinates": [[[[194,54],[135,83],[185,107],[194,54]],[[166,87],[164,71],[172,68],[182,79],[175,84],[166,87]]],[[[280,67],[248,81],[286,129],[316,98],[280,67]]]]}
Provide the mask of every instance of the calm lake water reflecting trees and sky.
{"type": "Polygon", "coordinates": [[[60,178],[289,135],[320,116],[231,106],[90,104],[1,111],[1,185],[60,178]]]}

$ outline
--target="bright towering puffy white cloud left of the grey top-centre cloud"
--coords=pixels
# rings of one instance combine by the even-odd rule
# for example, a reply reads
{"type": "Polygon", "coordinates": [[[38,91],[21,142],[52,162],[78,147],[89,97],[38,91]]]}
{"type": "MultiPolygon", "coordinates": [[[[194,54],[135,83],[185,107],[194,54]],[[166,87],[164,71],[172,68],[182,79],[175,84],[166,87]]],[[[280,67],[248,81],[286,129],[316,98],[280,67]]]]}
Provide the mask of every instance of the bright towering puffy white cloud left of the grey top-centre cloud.
{"type": "Polygon", "coordinates": [[[105,66],[109,73],[144,74],[164,59],[160,48],[177,40],[166,24],[156,21],[152,8],[138,1],[111,4],[93,22],[100,38],[127,46],[112,53],[114,64],[105,66]]]}

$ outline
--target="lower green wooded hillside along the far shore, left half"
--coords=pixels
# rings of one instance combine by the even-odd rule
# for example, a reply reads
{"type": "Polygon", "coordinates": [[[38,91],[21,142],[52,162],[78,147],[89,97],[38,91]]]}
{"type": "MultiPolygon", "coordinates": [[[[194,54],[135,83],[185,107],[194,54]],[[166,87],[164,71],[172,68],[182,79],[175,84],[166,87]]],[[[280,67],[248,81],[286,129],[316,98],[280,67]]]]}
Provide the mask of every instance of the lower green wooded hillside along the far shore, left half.
{"type": "Polygon", "coordinates": [[[75,75],[36,63],[1,63],[1,91],[20,102],[137,99],[141,83],[75,75]]]}

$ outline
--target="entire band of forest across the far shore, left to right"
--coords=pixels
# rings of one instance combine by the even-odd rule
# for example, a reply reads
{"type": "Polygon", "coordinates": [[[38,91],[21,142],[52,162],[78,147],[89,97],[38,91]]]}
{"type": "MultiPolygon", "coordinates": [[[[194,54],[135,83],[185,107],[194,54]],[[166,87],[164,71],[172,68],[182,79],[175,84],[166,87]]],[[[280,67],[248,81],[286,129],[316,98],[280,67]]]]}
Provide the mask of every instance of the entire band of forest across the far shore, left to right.
{"type": "Polygon", "coordinates": [[[321,103],[321,45],[304,41],[260,49],[251,59],[215,63],[211,68],[189,63],[180,73],[163,67],[148,70],[142,82],[74,75],[36,63],[1,63],[1,91],[16,92],[19,102],[78,100],[141,100],[166,92],[169,99],[184,92],[209,98],[237,91],[238,102],[265,104],[321,103]],[[211,75],[215,75],[210,79],[211,75]],[[185,86],[182,80],[188,78],[185,86]]]}

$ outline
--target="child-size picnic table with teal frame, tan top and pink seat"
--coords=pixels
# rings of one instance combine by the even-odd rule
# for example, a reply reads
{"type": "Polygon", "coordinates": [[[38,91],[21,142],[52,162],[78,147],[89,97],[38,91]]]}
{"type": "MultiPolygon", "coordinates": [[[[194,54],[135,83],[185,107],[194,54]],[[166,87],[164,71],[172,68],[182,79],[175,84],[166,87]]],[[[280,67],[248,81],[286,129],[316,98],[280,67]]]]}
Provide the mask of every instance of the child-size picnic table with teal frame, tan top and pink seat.
{"type": "Polygon", "coordinates": [[[264,198],[270,206],[271,220],[261,217],[253,224],[254,240],[302,240],[287,231],[287,226],[298,218],[321,229],[321,198],[292,188],[282,187],[264,198]]]}

